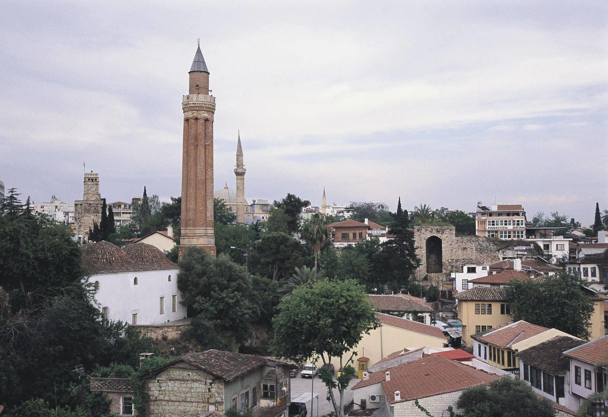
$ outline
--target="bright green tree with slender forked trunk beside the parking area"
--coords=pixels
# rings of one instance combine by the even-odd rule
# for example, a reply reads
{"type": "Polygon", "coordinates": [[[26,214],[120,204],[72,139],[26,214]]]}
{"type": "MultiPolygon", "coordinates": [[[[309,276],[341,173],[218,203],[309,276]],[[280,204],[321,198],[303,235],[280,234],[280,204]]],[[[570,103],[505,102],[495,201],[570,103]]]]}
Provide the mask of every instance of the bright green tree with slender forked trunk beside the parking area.
{"type": "Polygon", "coordinates": [[[339,358],[336,381],[327,368],[319,371],[337,417],[344,417],[344,391],[355,376],[354,346],[378,326],[365,289],[354,280],[320,280],[299,286],[272,320],[275,353],[298,363],[319,355],[323,364],[339,358]],[[349,351],[350,357],[344,357],[349,351]],[[336,400],[337,389],[339,400],[336,400]]]}

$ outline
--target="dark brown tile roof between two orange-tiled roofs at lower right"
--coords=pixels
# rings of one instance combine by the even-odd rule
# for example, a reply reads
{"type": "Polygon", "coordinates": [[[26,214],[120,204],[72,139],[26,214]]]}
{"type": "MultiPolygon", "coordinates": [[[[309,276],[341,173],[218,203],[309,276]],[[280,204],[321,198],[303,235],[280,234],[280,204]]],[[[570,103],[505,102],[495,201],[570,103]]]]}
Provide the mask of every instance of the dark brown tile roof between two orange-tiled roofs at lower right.
{"type": "Polygon", "coordinates": [[[570,368],[570,360],[562,352],[585,343],[584,340],[568,336],[556,336],[546,342],[531,346],[516,354],[528,365],[551,375],[559,375],[570,368]]]}

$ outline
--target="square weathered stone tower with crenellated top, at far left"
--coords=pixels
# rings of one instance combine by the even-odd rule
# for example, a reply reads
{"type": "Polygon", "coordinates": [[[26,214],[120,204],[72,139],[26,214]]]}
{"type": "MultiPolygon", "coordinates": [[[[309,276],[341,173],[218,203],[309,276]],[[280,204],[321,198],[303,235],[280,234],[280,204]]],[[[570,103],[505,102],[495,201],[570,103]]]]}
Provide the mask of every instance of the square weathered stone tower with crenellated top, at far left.
{"type": "Polygon", "coordinates": [[[74,201],[74,220],[78,242],[86,243],[89,240],[89,228],[93,228],[93,222],[99,224],[102,221],[102,207],[99,174],[93,171],[85,173],[82,199],[74,201]]]}

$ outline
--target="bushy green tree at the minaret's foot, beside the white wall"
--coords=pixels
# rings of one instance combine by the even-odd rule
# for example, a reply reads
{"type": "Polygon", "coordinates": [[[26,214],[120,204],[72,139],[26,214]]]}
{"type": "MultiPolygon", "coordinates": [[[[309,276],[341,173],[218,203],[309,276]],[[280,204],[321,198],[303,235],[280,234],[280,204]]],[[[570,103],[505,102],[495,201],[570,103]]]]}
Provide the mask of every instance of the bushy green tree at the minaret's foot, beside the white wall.
{"type": "Polygon", "coordinates": [[[202,346],[233,350],[247,340],[260,309],[244,267],[225,254],[214,258],[200,247],[188,248],[179,261],[178,288],[196,314],[192,336],[202,346]]]}

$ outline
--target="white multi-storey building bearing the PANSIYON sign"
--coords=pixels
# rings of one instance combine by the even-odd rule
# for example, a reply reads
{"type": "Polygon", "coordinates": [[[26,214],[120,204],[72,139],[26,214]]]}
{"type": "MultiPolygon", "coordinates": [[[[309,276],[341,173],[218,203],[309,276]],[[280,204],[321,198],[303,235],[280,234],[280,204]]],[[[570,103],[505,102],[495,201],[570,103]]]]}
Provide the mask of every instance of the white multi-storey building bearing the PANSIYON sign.
{"type": "Polygon", "coordinates": [[[477,203],[475,213],[477,236],[500,239],[525,239],[526,212],[521,204],[492,204],[491,207],[477,203]]]}

